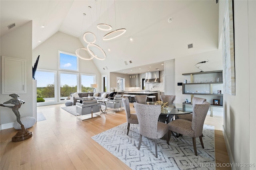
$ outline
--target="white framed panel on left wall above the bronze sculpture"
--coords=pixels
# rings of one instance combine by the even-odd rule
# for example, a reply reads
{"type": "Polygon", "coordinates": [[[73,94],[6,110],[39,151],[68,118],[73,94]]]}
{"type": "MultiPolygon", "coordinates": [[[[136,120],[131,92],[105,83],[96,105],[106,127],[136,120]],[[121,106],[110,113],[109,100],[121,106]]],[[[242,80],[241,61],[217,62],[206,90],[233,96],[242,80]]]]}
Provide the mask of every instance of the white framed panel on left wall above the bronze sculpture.
{"type": "Polygon", "coordinates": [[[2,94],[26,93],[26,60],[2,56],[2,94]]]}

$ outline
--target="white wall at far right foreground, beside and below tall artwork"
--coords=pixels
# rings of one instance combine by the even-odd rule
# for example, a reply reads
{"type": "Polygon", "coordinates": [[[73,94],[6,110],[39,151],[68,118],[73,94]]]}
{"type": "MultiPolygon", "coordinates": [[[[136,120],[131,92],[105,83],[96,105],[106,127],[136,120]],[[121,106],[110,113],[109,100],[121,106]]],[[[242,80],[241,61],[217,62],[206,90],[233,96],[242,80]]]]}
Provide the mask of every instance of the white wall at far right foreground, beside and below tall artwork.
{"type": "Polygon", "coordinates": [[[231,163],[256,163],[255,10],[255,1],[234,1],[236,96],[224,93],[224,131],[231,163]]]}

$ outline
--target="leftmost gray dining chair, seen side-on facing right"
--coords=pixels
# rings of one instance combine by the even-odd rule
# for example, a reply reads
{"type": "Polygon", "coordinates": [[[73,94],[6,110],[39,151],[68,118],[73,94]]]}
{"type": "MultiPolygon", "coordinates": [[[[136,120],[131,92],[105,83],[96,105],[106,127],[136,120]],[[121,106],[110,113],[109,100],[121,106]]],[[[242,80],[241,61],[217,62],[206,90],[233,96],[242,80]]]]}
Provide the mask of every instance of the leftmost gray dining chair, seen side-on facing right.
{"type": "Polygon", "coordinates": [[[127,135],[129,133],[130,129],[130,123],[132,124],[138,124],[138,118],[137,115],[134,113],[130,113],[130,102],[128,98],[122,98],[123,104],[124,104],[124,110],[126,114],[126,121],[127,121],[127,135]]]}

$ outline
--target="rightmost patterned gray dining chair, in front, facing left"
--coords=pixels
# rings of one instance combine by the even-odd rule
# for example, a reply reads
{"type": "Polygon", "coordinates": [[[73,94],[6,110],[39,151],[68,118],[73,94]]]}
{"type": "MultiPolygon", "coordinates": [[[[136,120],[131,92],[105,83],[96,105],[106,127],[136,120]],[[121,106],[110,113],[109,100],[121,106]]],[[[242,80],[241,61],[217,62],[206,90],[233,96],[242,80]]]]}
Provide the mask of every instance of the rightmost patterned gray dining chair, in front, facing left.
{"type": "Polygon", "coordinates": [[[168,123],[169,137],[171,136],[172,131],[192,137],[194,152],[196,156],[196,137],[200,138],[200,143],[202,145],[202,148],[204,148],[202,131],[204,126],[204,120],[209,107],[210,103],[208,102],[204,102],[203,104],[195,104],[193,106],[192,121],[188,121],[185,119],[176,119],[168,123]]]}

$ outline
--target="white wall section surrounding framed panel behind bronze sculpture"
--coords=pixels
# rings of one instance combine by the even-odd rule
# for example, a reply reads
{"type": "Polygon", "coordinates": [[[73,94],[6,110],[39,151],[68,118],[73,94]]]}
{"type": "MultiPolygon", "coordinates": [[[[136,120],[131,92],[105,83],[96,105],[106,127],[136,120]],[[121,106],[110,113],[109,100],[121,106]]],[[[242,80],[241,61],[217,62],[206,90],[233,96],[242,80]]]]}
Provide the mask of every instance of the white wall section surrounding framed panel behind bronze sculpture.
{"type": "MultiPolygon", "coordinates": [[[[19,109],[21,117],[33,116],[32,109],[32,21],[14,29],[7,35],[1,37],[1,56],[26,59],[27,68],[27,93],[19,94],[20,99],[26,103],[19,109]]],[[[2,73],[1,73],[2,74],[2,73]]],[[[11,99],[8,94],[2,94],[1,86],[1,103],[11,99]]],[[[12,105],[13,106],[13,105],[12,105]]],[[[2,107],[0,110],[2,129],[13,127],[16,116],[12,109],[2,107]],[[3,125],[5,124],[5,125],[3,125]],[[4,126],[4,127],[3,127],[4,126]]]]}

